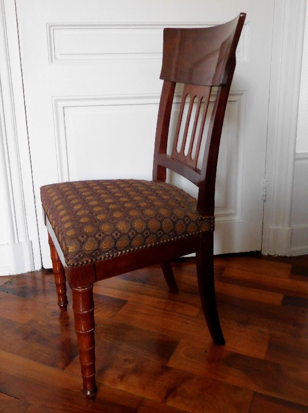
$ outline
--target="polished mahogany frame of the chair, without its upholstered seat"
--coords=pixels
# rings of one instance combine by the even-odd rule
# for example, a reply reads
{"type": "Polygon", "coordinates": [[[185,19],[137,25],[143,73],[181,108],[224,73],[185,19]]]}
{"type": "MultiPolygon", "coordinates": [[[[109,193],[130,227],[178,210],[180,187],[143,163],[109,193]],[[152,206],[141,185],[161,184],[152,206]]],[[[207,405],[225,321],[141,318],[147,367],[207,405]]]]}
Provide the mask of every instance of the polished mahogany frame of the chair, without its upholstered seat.
{"type": "MultiPolygon", "coordinates": [[[[241,13],[233,21],[210,28],[165,29],[163,63],[160,78],[164,81],[159,105],[156,142],[153,159],[153,181],[165,182],[166,169],[177,172],[198,186],[197,210],[214,220],[215,180],[227,98],[236,66],[235,51],[245,20],[241,13]],[[167,153],[167,141],[172,103],[176,83],[183,83],[184,90],[171,154],[167,153]],[[213,87],[216,87],[213,93],[213,87]],[[214,107],[209,128],[204,125],[210,97],[214,107]],[[184,108],[188,104],[184,119],[184,108]],[[196,103],[195,118],[192,108],[196,103]],[[202,110],[201,110],[202,109],[202,110]],[[184,124],[182,143],[180,130],[184,124]],[[192,124],[191,134],[189,125],[192,124]],[[198,126],[199,125],[199,126],[198,126]],[[199,127],[197,133],[197,126],[199,127]],[[204,153],[200,153],[201,141],[206,139],[204,153]],[[198,169],[198,160],[202,168],[198,169]]],[[[172,138],[171,138],[172,139],[172,138]]],[[[56,232],[55,228],[53,228],[56,232]]],[[[66,266],[66,279],[73,291],[73,310],[78,336],[78,347],[87,397],[93,397],[95,387],[94,319],[92,285],[95,282],[128,271],[160,264],[170,292],[178,287],[172,272],[171,260],[191,252],[197,253],[197,273],[203,313],[210,335],[218,346],[225,343],[215,297],[213,271],[213,228],[206,233],[171,240],[163,245],[151,246],[138,251],[119,254],[112,259],[91,262],[80,266],[66,266]]],[[[53,268],[60,308],[65,309],[65,277],[59,256],[49,238],[53,268]]],[[[144,245],[144,247],[147,247],[144,245]]],[[[90,260],[91,261],[91,260],[90,260]]],[[[151,320],[149,314],[149,322],[151,320]]]]}

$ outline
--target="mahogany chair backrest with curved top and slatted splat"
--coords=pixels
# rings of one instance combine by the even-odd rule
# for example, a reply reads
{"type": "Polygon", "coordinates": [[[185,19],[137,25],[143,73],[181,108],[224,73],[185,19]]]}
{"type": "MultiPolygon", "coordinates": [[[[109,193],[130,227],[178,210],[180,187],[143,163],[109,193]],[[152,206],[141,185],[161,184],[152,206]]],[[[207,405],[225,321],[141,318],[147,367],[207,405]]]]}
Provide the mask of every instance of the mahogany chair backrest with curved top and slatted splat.
{"type": "Polygon", "coordinates": [[[164,82],[156,129],[153,181],[166,181],[166,168],[168,168],[197,185],[199,187],[197,209],[202,215],[214,215],[220,137],[236,65],[235,51],[245,16],[245,13],[240,13],[234,20],[214,27],[164,29],[160,76],[164,82]],[[172,152],[167,154],[176,83],[184,84],[184,90],[172,152]],[[205,134],[204,124],[214,86],[217,87],[217,92],[207,136],[204,137],[206,139],[204,153],[201,154],[199,152],[205,134]],[[186,114],[184,108],[187,107],[188,101],[187,116],[184,120],[183,113],[186,114]],[[195,119],[191,120],[193,107],[195,119]],[[191,131],[190,136],[188,131],[191,131]],[[201,169],[197,167],[199,156],[203,156],[201,169]]]}

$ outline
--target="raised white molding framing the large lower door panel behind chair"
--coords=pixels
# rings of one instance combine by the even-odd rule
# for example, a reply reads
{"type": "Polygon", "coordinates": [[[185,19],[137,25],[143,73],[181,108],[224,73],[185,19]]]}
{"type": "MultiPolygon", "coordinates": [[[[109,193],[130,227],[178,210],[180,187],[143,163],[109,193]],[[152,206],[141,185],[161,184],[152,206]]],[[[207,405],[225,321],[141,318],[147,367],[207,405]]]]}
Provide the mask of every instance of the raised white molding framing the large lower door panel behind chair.
{"type": "MultiPolygon", "coordinates": [[[[182,93],[176,93],[174,102],[180,104],[182,93]]],[[[210,102],[213,103],[215,96],[211,96],[210,102]]],[[[160,94],[142,94],[142,95],[111,95],[111,96],[71,96],[71,97],[53,97],[52,106],[54,114],[55,128],[55,145],[57,156],[57,170],[59,182],[70,181],[69,155],[73,153],[68,150],[67,122],[69,121],[69,112],[71,108],[82,107],[101,107],[101,106],[125,106],[125,105],[156,105],[158,107],[160,94]]],[[[240,119],[244,119],[245,111],[245,92],[231,91],[228,97],[227,111],[232,111],[234,124],[228,125],[227,134],[230,135],[228,144],[234,148],[229,148],[230,153],[236,157],[233,164],[236,164],[236,170],[233,171],[232,182],[227,185],[226,205],[216,209],[217,221],[238,221],[241,220],[242,211],[242,178],[239,171],[242,170],[244,149],[244,127],[240,125],[240,119]],[[231,104],[231,105],[230,105],[231,104]]],[[[95,109],[94,109],[95,110],[95,109]]],[[[227,160],[228,163],[232,162],[227,160]]]]}

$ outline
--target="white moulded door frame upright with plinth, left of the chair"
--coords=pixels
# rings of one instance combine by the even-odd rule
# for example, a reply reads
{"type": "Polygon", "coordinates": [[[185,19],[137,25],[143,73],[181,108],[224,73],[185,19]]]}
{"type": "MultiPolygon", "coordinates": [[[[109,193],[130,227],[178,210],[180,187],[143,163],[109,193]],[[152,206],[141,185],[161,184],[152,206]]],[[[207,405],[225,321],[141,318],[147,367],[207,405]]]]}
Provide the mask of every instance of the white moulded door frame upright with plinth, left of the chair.
{"type": "Polygon", "coordinates": [[[35,232],[16,18],[0,0],[0,275],[34,269],[35,232]]]}

